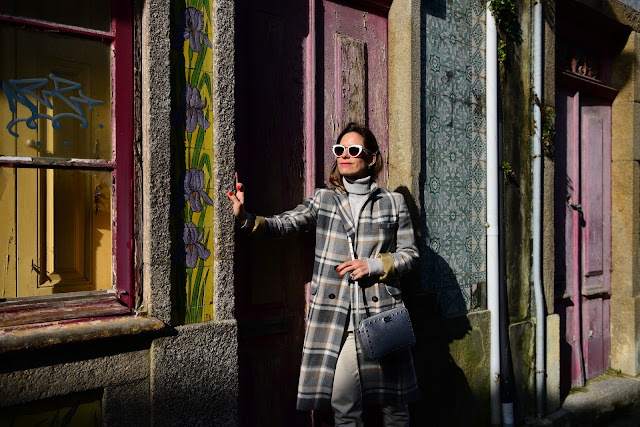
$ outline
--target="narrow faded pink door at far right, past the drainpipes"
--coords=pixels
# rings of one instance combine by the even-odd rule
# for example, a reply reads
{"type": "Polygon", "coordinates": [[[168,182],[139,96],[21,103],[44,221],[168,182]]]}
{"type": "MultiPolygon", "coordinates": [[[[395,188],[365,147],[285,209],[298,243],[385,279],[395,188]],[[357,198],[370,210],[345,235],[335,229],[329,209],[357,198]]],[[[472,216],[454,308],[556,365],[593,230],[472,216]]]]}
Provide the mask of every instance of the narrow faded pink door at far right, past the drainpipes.
{"type": "Polygon", "coordinates": [[[611,347],[611,103],[557,92],[556,304],[565,385],[609,368],[611,347]]]}

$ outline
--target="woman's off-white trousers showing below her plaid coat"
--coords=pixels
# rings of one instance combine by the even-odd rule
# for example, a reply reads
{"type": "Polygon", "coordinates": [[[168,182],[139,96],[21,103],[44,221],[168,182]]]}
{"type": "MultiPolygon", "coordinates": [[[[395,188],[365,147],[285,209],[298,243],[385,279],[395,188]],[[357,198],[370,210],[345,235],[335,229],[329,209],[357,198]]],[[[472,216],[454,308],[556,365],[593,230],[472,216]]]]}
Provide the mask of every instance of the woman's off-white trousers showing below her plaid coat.
{"type": "MultiPolygon", "coordinates": [[[[336,426],[362,427],[362,390],[356,354],[355,334],[349,332],[342,344],[331,393],[336,426]]],[[[408,405],[382,405],[385,427],[408,427],[408,405]]]]}

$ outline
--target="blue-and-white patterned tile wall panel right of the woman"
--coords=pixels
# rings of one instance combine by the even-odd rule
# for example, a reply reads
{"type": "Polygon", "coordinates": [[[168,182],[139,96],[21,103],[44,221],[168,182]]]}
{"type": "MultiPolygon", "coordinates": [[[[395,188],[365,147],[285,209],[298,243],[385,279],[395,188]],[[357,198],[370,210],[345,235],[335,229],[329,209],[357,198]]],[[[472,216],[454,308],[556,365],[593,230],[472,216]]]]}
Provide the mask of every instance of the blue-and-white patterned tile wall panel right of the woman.
{"type": "Polygon", "coordinates": [[[485,12],[422,6],[423,291],[443,315],[486,308],[485,12]]]}

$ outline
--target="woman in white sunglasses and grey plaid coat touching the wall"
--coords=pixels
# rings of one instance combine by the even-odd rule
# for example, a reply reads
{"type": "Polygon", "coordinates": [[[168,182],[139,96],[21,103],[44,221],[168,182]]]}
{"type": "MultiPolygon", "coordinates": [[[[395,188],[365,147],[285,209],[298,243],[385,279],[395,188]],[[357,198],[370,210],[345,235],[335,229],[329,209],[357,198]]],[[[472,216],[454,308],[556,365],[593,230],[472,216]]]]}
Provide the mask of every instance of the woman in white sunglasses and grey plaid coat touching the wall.
{"type": "Polygon", "coordinates": [[[297,408],[330,404],[336,425],[360,426],[362,407],[379,404],[385,426],[408,426],[407,404],[418,395],[410,351],[365,360],[356,331],[361,319],[403,306],[398,278],[418,261],[411,219],[402,195],[375,183],[382,160],[368,128],[349,123],[332,150],[334,188],[317,189],[291,211],[266,218],[246,213],[237,175],[229,198],[237,224],[253,234],[279,237],[315,228],[297,408]]]}

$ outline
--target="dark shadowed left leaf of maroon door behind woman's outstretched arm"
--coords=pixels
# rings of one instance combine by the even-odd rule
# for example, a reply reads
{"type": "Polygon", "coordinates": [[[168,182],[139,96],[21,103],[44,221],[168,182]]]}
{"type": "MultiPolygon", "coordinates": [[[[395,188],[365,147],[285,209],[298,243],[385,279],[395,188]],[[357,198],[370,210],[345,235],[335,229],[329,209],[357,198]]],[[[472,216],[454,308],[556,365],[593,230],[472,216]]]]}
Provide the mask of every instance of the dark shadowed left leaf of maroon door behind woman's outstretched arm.
{"type": "MultiPolygon", "coordinates": [[[[308,6],[238,1],[235,28],[236,169],[247,209],[280,213],[304,199],[308,6]]],[[[305,253],[302,237],[237,236],[240,425],[304,426],[309,414],[295,406],[313,255],[305,253]]]]}

